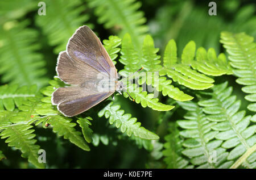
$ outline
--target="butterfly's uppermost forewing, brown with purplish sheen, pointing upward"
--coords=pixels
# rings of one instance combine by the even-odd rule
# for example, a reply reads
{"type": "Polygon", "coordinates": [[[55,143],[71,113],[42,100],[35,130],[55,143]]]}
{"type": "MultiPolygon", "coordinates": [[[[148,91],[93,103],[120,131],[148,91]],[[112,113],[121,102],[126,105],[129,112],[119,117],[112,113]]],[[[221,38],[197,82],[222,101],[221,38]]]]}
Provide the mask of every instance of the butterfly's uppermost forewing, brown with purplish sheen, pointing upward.
{"type": "Polygon", "coordinates": [[[108,52],[88,26],[78,28],[69,39],[67,54],[77,63],[90,66],[90,68],[84,69],[85,74],[94,69],[97,72],[109,74],[112,78],[118,78],[117,70],[108,52]]]}

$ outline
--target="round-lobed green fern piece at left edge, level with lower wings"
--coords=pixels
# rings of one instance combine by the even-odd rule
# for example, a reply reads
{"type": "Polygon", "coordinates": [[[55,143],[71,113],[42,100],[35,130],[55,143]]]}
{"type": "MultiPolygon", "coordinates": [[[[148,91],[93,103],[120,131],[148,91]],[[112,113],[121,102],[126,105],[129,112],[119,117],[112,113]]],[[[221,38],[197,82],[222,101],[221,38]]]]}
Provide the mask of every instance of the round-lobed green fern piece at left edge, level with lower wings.
{"type": "Polygon", "coordinates": [[[3,85],[0,86],[0,110],[13,111],[15,105],[21,106],[23,101],[28,97],[35,97],[37,87],[18,85],[3,85]]]}

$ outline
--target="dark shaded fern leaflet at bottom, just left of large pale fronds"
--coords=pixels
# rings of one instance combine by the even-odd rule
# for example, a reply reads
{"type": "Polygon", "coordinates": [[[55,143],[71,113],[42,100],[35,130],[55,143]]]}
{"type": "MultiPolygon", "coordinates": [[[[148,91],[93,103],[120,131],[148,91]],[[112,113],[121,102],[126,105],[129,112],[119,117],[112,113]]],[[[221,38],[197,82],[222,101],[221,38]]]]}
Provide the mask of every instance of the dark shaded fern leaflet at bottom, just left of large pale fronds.
{"type": "Polygon", "coordinates": [[[164,162],[167,164],[167,168],[181,169],[181,168],[193,168],[193,165],[189,165],[189,160],[183,157],[181,154],[182,140],[179,137],[179,130],[176,123],[170,123],[168,125],[168,131],[170,134],[164,137],[166,143],[164,143],[164,162]]]}

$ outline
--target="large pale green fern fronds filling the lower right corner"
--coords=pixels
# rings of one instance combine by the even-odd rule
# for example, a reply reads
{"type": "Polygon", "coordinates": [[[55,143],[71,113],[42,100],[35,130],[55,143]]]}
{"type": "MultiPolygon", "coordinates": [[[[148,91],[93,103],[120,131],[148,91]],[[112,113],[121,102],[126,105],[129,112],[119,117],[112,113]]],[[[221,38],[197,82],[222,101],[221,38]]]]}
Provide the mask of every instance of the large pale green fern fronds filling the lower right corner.
{"type": "Polygon", "coordinates": [[[181,153],[196,168],[230,168],[248,150],[250,154],[240,163],[255,168],[256,153],[250,149],[256,144],[256,126],[250,122],[251,115],[238,111],[241,101],[236,101],[232,87],[227,86],[228,82],[215,85],[211,98],[198,102],[203,108],[193,102],[179,103],[188,111],[184,120],[177,120],[183,128],[179,132],[184,138],[181,153]]]}

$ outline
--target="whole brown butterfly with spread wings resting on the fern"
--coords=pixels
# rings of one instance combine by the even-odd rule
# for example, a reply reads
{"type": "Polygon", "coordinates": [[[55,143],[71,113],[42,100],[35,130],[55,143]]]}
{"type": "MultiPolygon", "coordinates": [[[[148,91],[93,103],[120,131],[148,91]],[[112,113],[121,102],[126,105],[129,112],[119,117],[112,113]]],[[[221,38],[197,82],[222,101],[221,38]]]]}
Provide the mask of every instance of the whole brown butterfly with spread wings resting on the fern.
{"type": "Polygon", "coordinates": [[[51,102],[64,116],[75,116],[104,101],[115,91],[122,94],[123,82],[96,34],[81,26],[59,53],[57,76],[71,86],[59,87],[51,102]]]}

